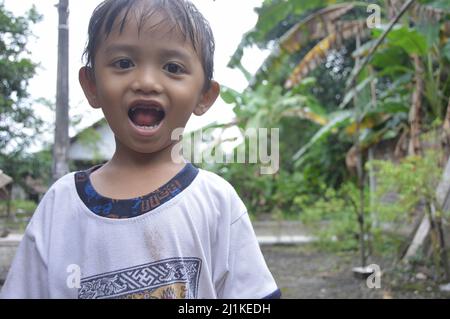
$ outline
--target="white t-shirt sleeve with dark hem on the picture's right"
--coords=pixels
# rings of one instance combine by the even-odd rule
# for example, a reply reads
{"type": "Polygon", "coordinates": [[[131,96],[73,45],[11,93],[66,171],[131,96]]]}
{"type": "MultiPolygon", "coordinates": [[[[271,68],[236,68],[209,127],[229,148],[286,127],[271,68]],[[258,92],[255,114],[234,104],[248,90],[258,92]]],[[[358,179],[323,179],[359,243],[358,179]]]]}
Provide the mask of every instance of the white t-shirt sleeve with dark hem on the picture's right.
{"type": "Polygon", "coordinates": [[[228,272],[219,298],[260,299],[278,291],[247,213],[232,221],[229,245],[228,272]]]}

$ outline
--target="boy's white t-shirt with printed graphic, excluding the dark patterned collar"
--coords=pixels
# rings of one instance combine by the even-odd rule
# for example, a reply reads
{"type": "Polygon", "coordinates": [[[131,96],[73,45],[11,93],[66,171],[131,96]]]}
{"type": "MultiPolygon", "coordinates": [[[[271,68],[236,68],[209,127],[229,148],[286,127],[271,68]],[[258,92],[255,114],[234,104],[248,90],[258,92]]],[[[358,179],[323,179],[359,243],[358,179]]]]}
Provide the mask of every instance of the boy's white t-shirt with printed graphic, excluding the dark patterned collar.
{"type": "Polygon", "coordinates": [[[62,177],[33,215],[1,297],[279,297],[234,188],[192,169],[169,200],[123,219],[94,213],[75,173],[62,177]]]}

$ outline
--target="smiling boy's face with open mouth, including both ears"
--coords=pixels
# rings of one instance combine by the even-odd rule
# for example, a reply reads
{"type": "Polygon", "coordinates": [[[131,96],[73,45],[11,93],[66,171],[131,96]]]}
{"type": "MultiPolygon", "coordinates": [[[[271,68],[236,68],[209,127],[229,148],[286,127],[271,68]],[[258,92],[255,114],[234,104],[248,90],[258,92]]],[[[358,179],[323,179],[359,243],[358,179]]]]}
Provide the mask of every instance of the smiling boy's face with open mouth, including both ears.
{"type": "Polygon", "coordinates": [[[140,30],[131,12],[122,33],[117,24],[106,40],[100,35],[95,78],[82,68],[80,82],[89,103],[102,108],[116,143],[140,153],[157,152],[176,142],[172,131],[184,128],[192,113],[208,110],[219,86],[213,82],[203,91],[197,53],[162,15],[152,15],[140,30]]]}

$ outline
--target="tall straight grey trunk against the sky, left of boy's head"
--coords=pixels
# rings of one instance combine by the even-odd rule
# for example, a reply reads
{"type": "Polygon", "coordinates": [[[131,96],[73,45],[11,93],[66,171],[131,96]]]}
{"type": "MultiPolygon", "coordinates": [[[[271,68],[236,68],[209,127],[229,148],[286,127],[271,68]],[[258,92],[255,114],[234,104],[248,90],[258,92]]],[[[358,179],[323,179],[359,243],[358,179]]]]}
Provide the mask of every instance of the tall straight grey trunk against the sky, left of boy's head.
{"type": "Polygon", "coordinates": [[[56,85],[55,144],[53,146],[52,178],[69,172],[69,0],[58,4],[58,74],[56,85]]]}

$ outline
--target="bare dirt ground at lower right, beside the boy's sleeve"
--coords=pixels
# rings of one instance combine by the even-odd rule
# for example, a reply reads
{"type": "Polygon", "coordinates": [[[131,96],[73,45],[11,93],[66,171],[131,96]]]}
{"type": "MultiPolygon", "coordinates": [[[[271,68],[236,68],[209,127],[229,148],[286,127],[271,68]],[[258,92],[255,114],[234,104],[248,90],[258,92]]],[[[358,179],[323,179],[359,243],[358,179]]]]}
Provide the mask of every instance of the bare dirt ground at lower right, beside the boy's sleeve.
{"type": "MultiPolygon", "coordinates": [[[[294,299],[429,299],[450,298],[439,285],[422,272],[397,274],[384,269],[390,263],[377,260],[380,265],[381,288],[368,288],[366,280],[353,276],[358,265],[354,252],[325,253],[311,244],[263,246],[262,252],[282,292],[283,298],[294,299]]],[[[391,267],[392,268],[392,267],[391,267]]]]}

